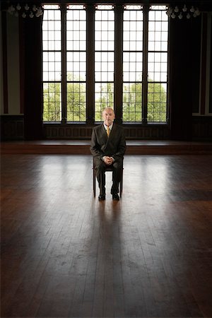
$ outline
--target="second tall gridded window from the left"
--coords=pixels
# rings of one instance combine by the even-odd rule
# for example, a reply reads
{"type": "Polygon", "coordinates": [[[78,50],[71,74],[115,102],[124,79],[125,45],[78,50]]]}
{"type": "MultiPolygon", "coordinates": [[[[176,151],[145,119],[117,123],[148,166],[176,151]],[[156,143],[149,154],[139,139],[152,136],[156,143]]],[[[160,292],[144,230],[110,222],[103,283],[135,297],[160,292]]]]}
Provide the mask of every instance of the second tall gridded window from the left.
{"type": "Polygon", "coordinates": [[[66,13],[67,122],[86,122],[86,11],[69,5],[66,13]]]}

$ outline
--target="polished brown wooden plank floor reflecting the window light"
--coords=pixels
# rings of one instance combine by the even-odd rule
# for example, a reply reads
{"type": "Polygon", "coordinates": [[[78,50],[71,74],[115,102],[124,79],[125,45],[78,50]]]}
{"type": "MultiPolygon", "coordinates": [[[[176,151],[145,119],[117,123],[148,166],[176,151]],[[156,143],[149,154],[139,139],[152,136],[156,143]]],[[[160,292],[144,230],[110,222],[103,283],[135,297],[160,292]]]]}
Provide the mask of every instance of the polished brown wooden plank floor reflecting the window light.
{"type": "Polygon", "coordinates": [[[212,155],[1,155],[1,317],[212,317],[212,155]]]}

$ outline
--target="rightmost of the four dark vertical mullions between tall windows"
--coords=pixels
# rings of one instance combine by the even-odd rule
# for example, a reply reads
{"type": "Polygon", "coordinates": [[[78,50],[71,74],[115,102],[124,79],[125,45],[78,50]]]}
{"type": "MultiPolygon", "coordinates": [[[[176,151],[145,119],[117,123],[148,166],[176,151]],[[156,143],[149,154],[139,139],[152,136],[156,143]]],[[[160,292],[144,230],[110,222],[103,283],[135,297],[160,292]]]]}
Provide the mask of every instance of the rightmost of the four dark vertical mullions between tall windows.
{"type": "Polygon", "coordinates": [[[148,90],[148,11],[143,6],[143,85],[142,85],[142,122],[147,123],[147,90],[148,90]]]}

